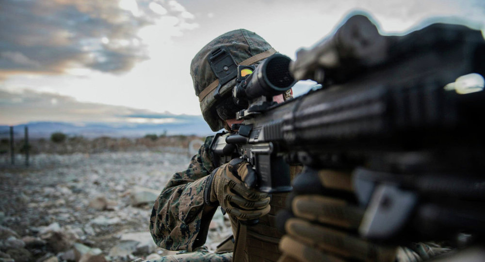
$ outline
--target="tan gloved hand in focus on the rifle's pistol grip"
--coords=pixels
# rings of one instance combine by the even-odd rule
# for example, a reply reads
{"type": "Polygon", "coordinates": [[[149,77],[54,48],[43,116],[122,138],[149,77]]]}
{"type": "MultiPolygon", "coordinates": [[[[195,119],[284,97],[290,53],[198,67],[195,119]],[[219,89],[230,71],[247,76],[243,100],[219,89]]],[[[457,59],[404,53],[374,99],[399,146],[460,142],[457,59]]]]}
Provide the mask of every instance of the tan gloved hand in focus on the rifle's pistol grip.
{"type": "Polygon", "coordinates": [[[270,212],[270,197],[254,189],[256,173],[251,165],[240,158],[232,159],[212,173],[209,197],[232,216],[246,221],[270,212]]]}

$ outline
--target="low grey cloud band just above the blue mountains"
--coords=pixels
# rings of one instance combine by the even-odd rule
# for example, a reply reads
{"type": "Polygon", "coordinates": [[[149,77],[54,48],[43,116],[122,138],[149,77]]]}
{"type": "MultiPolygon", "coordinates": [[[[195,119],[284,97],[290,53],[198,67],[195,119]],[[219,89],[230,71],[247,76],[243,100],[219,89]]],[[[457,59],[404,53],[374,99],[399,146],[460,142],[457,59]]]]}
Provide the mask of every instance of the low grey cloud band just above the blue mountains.
{"type": "Polygon", "coordinates": [[[0,90],[0,124],[36,121],[69,123],[183,123],[194,116],[158,113],[145,109],[84,103],[70,96],[47,92],[0,90]]]}

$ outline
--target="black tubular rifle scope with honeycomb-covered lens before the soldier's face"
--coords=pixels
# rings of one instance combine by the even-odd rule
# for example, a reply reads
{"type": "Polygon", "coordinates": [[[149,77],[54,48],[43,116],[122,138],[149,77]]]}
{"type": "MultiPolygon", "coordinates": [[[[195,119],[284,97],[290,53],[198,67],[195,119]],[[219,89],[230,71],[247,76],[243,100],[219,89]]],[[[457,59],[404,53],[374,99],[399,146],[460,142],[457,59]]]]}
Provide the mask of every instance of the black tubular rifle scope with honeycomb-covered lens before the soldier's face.
{"type": "Polygon", "coordinates": [[[290,62],[291,58],[274,54],[260,63],[242,83],[246,97],[274,96],[290,89],[296,83],[290,73],[290,62]]]}

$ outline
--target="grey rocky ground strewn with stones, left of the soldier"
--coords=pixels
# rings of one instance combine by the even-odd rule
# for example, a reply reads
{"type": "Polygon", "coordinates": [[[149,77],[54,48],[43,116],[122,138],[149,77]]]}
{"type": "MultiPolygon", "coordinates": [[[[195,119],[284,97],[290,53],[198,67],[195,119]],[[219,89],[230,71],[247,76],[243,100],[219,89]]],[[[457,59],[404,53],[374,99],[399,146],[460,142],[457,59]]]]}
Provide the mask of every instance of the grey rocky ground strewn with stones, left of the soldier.
{"type": "MultiPolygon", "coordinates": [[[[174,251],[148,232],[154,199],[184,170],[183,148],[96,154],[35,154],[30,166],[0,163],[0,262],[131,261],[174,251]]],[[[1,160],[1,159],[0,159],[1,160]]],[[[230,234],[219,211],[206,245],[230,234]]]]}

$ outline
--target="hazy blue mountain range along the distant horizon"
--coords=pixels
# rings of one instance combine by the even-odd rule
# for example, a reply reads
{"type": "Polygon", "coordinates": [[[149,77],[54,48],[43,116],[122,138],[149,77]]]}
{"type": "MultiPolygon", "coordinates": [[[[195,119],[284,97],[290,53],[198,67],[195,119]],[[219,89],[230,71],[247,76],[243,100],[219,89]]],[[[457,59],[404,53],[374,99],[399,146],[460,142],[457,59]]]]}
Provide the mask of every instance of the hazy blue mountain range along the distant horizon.
{"type": "MultiPolygon", "coordinates": [[[[30,122],[14,126],[16,138],[24,137],[24,127],[29,127],[30,138],[49,138],[54,132],[69,136],[96,138],[109,137],[143,137],[146,134],[166,135],[199,135],[207,136],[213,132],[202,116],[182,116],[183,119],[173,123],[65,123],[65,122],[30,122]]],[[[0,137],[9,136],[10,127],[0,125],[0,137]]]]}

